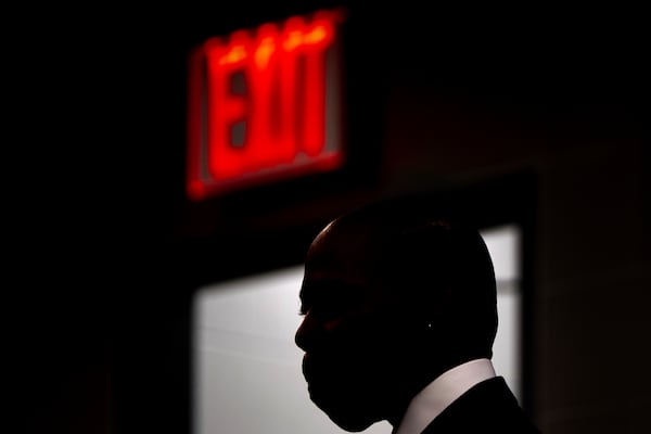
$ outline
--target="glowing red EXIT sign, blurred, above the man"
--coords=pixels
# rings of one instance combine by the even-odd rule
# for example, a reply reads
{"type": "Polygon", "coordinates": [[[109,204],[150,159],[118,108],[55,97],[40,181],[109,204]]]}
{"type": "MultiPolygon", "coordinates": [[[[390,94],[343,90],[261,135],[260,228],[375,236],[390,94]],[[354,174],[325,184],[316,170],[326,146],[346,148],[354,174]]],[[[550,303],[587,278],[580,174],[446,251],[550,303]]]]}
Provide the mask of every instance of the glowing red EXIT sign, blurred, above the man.
{"type": "Polygon", "coordinates": [[[341,24],[319,11],[210,38],[189,64],[192,200],[343,164],[341,24]]]}

